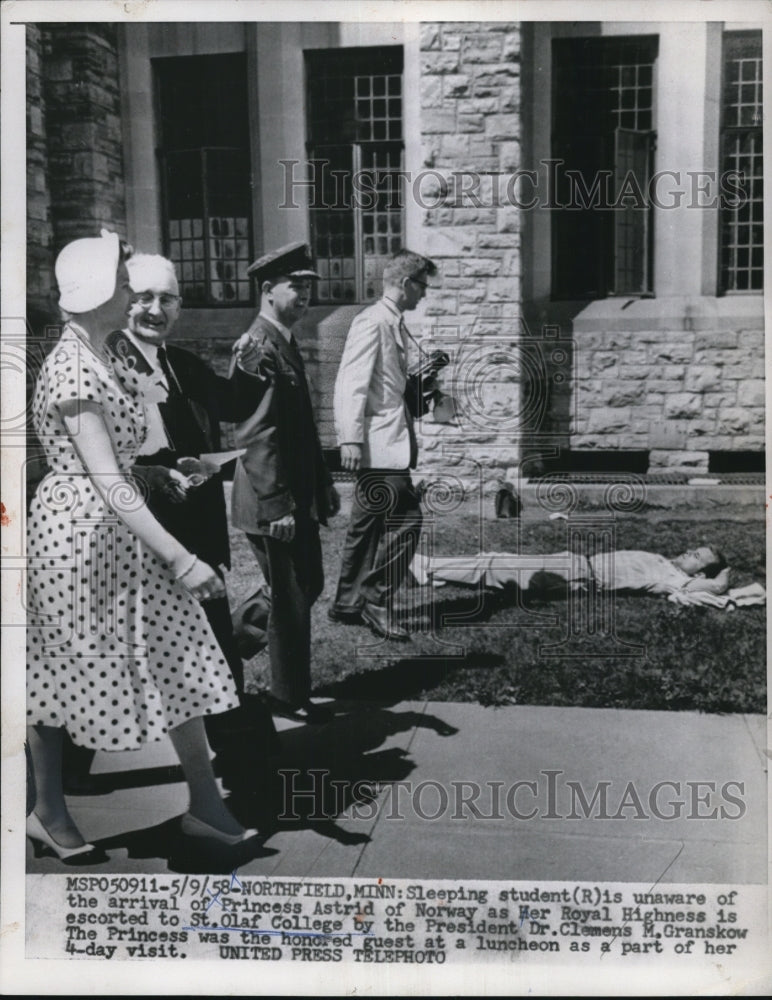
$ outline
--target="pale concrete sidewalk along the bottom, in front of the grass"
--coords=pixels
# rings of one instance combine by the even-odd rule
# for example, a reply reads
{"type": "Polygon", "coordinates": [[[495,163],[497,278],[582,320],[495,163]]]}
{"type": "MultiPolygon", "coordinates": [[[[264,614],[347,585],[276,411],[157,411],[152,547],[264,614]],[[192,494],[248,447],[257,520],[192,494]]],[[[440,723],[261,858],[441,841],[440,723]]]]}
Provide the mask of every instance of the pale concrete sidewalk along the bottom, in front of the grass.
{"type": "MultiPolygon", "coordinates": [[[[334,707],[324,726],[283,724],[273,794],[285,816],[266,843],[276,853],[240,863],[241,873],[766,880],[762,715],[334,707]]],[[[169,844],[187,802],[171,745],[99,753],[92,774],[103,794],[68,803],[109,860],[84,870],[176,870],[169,844]]],[[[28,871],[77,870],[33,859],[28,844],[28,871]]]]}

